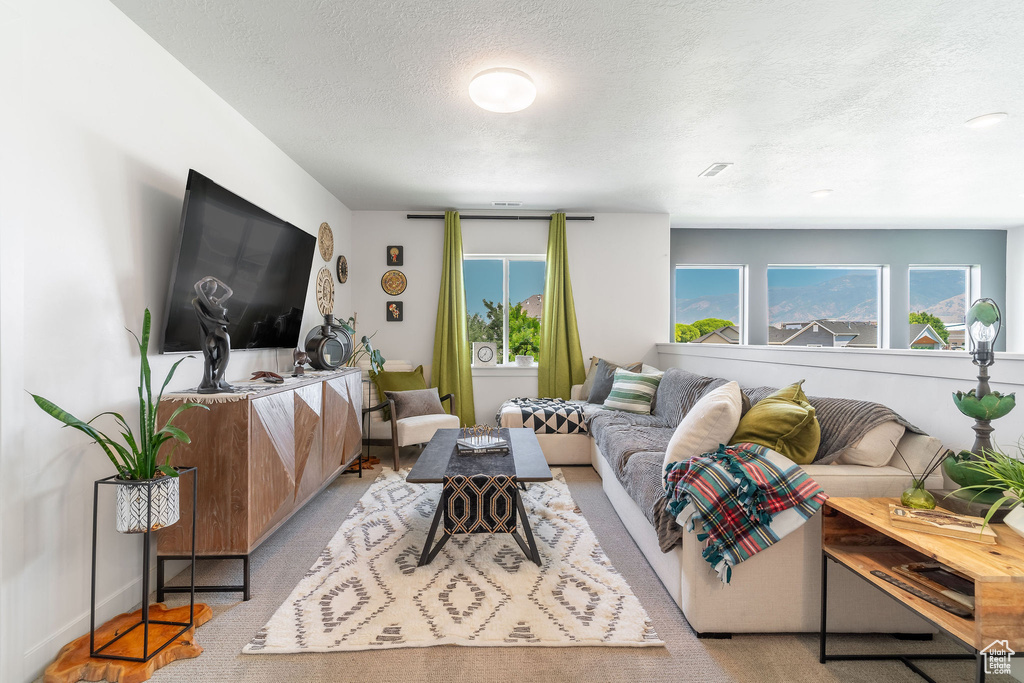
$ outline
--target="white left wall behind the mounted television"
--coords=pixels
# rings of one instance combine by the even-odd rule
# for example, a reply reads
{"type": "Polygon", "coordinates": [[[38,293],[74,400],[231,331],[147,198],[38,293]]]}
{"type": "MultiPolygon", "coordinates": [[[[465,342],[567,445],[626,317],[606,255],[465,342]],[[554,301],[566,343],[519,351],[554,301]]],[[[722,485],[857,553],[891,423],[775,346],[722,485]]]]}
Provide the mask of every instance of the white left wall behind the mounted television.
{"type": "MultiPolygon", "coordinates": [[[[330,222],[337,253],[351,214],[104,0],[0,0],[0,680],[25,681],[88,630],[92,481],[113,469],[26,392],[80,417],[132,414],[124,328],[145,306],[160,326],[189,167],[307,231],[330,222]]],[[[311,293],[306,305],[311,328],[311,293]]],[[[337,307],[351,308],[344,287],[337,307]]],[[[236,352],[228,378],[288,355],[236,352]]],[[[154,355],[154,376],[175,359],[154,355]]],[[[172,388],[201,370],[186,360],[172,388]]],[[[111,508],[100,620],[140,597],[140,539],[113,531],[111,508]]]]}

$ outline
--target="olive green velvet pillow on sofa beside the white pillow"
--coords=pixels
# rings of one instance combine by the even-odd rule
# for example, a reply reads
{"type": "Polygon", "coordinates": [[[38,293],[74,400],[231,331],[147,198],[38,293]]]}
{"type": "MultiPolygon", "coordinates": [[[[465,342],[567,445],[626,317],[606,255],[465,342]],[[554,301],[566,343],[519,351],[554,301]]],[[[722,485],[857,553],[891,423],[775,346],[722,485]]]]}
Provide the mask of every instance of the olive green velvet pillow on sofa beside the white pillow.
{"type": "Polygon", "coordinates": [[[755,403],[739,420],[732,443],[758,443],[782,454],[798,465],[814,462],[821,427],[800,380],[755,403]]]}

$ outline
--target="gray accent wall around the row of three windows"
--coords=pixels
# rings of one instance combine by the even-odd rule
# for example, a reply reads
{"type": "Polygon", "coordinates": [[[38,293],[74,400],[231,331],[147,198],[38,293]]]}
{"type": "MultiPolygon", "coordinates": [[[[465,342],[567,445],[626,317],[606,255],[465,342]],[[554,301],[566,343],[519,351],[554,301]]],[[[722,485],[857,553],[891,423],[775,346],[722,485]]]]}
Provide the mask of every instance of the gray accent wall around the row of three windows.
{"type": "MultiPolygon", "coordinates": [[[[1006,310],[1006,230],[921,229],[745,229],[673,228],[671,247],[672,297],[675,317],[677,265],[748,266],[746,323],[751,344],[768,343],[769,265],[883,265],[888,266],[889,347],[907,348],[911,265],[980,266],[981,291],[974,298],[991,297],[1006,310]]],[[[670,327],[669,339],[674,339],[670,327]]],[[[1006,350],[1006,335],[996,350],[1006,350]]]]}

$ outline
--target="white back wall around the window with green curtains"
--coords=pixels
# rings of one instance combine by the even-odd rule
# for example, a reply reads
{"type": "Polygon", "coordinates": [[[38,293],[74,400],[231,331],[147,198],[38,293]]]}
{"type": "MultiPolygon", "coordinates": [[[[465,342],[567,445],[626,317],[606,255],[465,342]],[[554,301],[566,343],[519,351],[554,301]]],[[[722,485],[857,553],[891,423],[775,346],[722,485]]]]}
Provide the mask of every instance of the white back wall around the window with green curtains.
{"type": "MultiPolygon", "coordinates": [[[[374,344],[385,357],[423,364],[429,371],[444,222],[406,216],[397,211],[352,213],[349,283],[359,304],[358,332],[377,331],[374,344]],[[408,276],[409,288],[398,297],[388,296],[380,286],[389,267],[388,245],[404,247],[404,265],[399,269],[408,276]],[[385,321],[389,300],[403,302],[403,322],[385,321]]],[[[596,214],[593,222],[568,221],[566,233],[584,356],[652,362],[653,344],[665,338],[669,326],[669,216],[596,214]]],[[[544,254],[548,223],[467,219],[462,221],[462,237],[466,254],[544,254]]],[[[477,422],[489,422],[506,398],[537,395],[537,371],[476,370],[473,394],[477,422]]]]}

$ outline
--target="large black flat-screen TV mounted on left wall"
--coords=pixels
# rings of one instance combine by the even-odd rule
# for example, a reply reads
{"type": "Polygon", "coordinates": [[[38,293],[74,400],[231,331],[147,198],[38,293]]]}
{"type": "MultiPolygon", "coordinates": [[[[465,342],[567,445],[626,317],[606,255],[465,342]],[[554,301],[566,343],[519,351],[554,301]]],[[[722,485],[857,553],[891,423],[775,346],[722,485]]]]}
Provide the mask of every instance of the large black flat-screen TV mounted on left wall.
{"type": "Polygon", "coordinates": [[[315,245],[313,236],[189,170],[161,350],[201,349],[193,299],[207,275],[232,290],[224,302],[232,349],[294,347],[315,245]]]}

